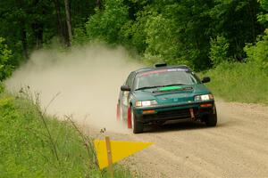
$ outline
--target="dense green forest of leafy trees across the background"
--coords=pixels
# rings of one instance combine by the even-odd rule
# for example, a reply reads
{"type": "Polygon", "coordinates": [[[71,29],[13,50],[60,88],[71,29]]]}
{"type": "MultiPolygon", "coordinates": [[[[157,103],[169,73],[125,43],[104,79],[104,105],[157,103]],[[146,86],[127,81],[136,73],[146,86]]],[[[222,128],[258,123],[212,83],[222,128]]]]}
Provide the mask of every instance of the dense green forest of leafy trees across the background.
{"type": "Polygon", "coordinates": [[[267,0],[6,0],[0,2],[0,80],[54,44],[101,41],[140,61],[268,70],[267,0]]]}

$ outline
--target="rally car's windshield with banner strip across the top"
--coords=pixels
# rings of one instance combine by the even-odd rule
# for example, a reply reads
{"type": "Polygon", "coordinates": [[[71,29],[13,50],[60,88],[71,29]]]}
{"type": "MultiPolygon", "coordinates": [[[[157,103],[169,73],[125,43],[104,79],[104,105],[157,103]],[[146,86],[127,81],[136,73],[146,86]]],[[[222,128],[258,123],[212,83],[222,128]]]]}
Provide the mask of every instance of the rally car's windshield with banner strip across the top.
{"type": "Polygon", "coordinates": [[[134,81],[134,90],[166,85],[195,85],[200,80],[188,69],[157,69],[139,73],[134,81]]]}

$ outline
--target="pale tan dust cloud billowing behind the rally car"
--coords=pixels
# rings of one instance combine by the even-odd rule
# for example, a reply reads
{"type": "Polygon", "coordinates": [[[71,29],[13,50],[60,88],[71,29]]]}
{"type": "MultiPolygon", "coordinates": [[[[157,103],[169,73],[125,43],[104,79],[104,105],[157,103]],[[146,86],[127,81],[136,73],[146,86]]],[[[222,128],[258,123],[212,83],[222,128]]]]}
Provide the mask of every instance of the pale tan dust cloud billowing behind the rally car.
{"type": "Polygon", "coordinates": [[[71,49],[68,53],[38,51],[5,81],[10,91],[29,86],[40,93],[43,108],[59,118],[72,116],[83,125],[107,131],[127,132],[116,122],[120,86],[140,65],[122,48],[101,44],[71,49]]]}

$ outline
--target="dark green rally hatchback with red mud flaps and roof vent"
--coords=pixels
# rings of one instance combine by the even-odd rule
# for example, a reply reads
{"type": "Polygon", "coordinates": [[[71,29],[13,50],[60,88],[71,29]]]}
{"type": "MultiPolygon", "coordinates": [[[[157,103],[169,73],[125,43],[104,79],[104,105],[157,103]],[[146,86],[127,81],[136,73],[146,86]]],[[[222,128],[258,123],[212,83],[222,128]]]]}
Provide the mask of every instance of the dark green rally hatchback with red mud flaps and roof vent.
{"type": "Polygon", "coordinates": [[[214,95],[187,66],[156,64],[155,68],[132,71],[121,85],[117,119],[127,122],[134,134],[145,125],[168,120],[191,119],[207,126],[217,124],[214,95]]]}

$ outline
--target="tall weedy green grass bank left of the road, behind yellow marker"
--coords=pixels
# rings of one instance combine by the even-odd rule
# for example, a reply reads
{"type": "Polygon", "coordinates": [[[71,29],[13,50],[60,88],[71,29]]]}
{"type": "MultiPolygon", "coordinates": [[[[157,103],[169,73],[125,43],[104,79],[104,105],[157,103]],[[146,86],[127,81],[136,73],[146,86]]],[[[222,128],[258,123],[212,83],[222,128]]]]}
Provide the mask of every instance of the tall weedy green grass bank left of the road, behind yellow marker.
{"type": "MultiPolygon", "coordinates": [[[[44,115],[38,103],[0,94],[1,177],[109,177],[99,171],[90,138],[71,122],[44,115]]],[[[131,177],[115,166],[115,177],[131,177]]]]}

